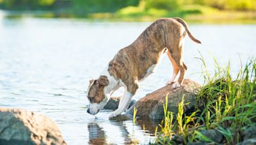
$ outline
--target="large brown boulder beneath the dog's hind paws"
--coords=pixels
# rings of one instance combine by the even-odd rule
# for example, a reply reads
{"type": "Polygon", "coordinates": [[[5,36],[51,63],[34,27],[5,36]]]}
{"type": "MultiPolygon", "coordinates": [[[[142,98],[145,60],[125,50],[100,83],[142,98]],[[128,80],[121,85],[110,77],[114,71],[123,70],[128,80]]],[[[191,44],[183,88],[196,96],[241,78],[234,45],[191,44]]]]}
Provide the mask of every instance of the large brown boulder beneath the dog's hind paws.
{"type": "Polygon", "coordinates": [[[153,119],[162,119],[164,117],[163,103],[168,93],[168,111],[172,111],[174,119],[178,112],[178,104],[184,96],[184,113],[194,111],[196,105],[196,94],[199,92],[201,85],[191,79],[184,79],[180,88],[172,88],[172,85],[164,86],[155,92],[149,93],[136,104],[127,110],[127,114],[133,114],[133,107],[136,107],[136,116],[149,116],[153,119]]]}

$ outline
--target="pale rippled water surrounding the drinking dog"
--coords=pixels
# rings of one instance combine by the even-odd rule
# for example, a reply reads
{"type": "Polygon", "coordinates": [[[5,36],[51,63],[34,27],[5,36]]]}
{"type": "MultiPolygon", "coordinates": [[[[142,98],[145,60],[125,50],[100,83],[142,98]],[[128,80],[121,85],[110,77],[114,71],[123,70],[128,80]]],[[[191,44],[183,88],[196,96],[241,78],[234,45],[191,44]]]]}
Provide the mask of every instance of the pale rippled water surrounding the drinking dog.
{"type": "MultiPolygon", "coordinates": [[[[0,106],[46,114],[58,123],[68,144],[123,144],[154,139],[157,123],[139,120],[109,121],[111,111],[86,113],[85,93],[109,60],[129,45],[150,23],[86,22],[68,19],[0,17],[0,106]],[[143,130],[145,124],[145,130],[143,130]]],[[[189,25],[202,41],[186,39],[185,78],[204,83],[198,50],[213,72],[210,52],[220,64],[231,62],[232,73],[255,57],[256,25],[189,25]]],[[[172,65],[165,56],[156,73],[140,83],[138,100],[168,81],[172,65]]],[[[114,95],[122,94],[122,89],[114,95]]]]}

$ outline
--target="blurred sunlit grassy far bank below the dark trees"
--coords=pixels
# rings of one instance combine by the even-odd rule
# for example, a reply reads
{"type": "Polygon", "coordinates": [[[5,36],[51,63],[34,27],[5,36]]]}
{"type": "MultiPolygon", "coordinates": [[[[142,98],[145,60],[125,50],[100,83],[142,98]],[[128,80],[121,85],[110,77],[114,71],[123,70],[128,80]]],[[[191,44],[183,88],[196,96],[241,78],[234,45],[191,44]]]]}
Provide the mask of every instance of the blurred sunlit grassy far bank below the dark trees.
{"type": "Polygon", "coordinates": [[[73,11],[3,11],[4,18],[76,18],[99,22],[152,22],[157,18],[180,17],[192,24],[256,24],[256,11],[218,10],[198,4],[186,5],[179,10],[145,10],[143,6],[128,6],[113,13],[77,15],[73,11]]]}

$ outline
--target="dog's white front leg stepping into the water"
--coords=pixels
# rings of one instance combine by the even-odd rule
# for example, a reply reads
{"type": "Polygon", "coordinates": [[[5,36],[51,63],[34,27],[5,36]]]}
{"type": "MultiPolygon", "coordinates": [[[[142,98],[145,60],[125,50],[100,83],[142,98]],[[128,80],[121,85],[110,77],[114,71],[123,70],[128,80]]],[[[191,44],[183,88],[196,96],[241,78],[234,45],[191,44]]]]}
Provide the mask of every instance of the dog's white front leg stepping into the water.
{"type": "Polygon", "coordinates": [[[118,108],[109,115],[109,118],[113,118],[118,114],[121,114],[122,112],[124,112],[129,106],[129,104],[131,103],[132,96],[133,96],[132,93],[125,90],[124,95],[120,98],[118,108]]]}

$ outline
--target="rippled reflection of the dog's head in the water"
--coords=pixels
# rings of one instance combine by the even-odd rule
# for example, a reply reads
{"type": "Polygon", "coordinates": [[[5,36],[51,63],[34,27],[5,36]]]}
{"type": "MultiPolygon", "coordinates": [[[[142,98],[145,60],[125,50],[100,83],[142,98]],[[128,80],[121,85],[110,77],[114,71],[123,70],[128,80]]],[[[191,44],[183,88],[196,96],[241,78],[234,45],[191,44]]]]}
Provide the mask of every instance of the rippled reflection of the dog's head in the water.
{"type": "Polygon", "coordinates": [[[97,123],[88,124],[89,144],[107,144],[106,134],[97,123]]]}

